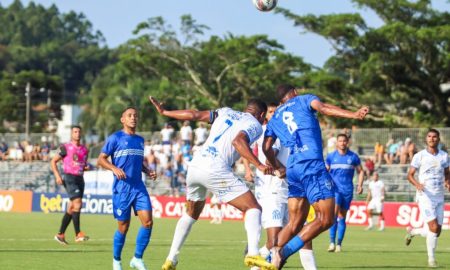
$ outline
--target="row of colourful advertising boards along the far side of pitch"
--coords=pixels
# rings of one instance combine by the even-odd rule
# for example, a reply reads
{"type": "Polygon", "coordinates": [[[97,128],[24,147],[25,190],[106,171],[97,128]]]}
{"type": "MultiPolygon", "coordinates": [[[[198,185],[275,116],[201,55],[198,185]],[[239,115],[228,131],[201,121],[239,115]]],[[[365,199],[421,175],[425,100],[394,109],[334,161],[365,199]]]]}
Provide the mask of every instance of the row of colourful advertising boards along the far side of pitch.
{"type": "MultiPolygon", "coordinates": [[[[65,212],[69,204],[65,193],[33,193],[31,191],[1,191],[0,212],[65,212]]],[[[179,218],[186,211],[184,197],[151,196],[153,216],[155,218],[179,218]]],[[[112,214],[110,195],[90,195],[83,198],[82,212],[87,214],[112,214]]],[[[387,227],[421,227],[423,220],[416,203],[386,202],[383,210],[387,227]]],[[[231,205],[222,204],[224,220],[242,220],[244,215],[231,205]]],[[[211,206],[209,199],[200,218],[210,219],[217,215],[217,209],[211,206]]],[[[367,206],[365,202],[352,202],[347,213],[349,225],[367,225],[367,206]]],[[[450,229],[450,204],[444,206],[443,229],[450,229]]]]}

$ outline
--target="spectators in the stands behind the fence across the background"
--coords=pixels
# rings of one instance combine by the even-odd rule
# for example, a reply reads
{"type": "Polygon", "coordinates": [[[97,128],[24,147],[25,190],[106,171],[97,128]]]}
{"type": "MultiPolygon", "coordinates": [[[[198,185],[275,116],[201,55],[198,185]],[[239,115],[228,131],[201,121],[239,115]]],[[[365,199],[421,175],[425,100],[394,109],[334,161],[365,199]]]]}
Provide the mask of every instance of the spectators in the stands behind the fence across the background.
{"type": "MultiPolygon", "coordinates": [[[[423,149],[427,130],[426,128],[324,129],[324,155],[329,150],[327,146],[330,144],[331,137],[335,137],[339,133],[347,133],[351,137],[351,149],[361,156],[363,167],[368,171],[368,174],[370,171],[378,170],[380,179],[386,184],[387,200],[413,201],[415,189],[406,179],[410,158],[405,157],[404,162],[402,161],[401,145],[405,141],[410,141],[415,145],[415,152],[423,149]],[[384,157],[378,160],[375,145],[377,143],[384,145],[384,155],[388,155],[389,146],[386,144],[390,141],[393,144],[399,144],[397,154],[393,156],[393,162],[387,162],[384,157]],[[371,163],[373,164],[371,165],[371,163]]],[[[450,128],[438,128],[438,130],[441,133],[442,149],[446,150],[446,144],[450,140],[450,128]]],[[[189,140],[183,138],[182,132],[172,130],[170,141],[167,142],[165,141],[167,138],[164,139],[163,130],[161,132],[138,133],[146,140],[145,156],[149,166],[155,166],[154,168],[158,171],[158,181],[155,183],[148,182],[149,191],[155,195],[183,195],[188,161],[193,152],[200,147],[195,138],[191,135],[189,142],[189,140]]],[[[54,177],[48,162],[52,155],[57,153],[57,147],[60,143],[57,136],[54,134],[30,134],[28,140],[26,140],[25,134],[4,133],[0,134],[0,143],[9,145],[9,153],[5,159],[8,161],[0,161],[0,189],[39,192],[59,191],[54,183],[54,177]],[[26,142],[25,147],[23,147],[23,142],[26,142]],[[35,154],[35,151],[38,150],[40,151],[39,154],[35,154]],[[22,151],[22,154],[17,154],[20,151],[22,151]],[[14,155],[11,154],[14,152],[14,155]]],[[[102,146],[102,142],[89,145],[89,161],[92,164],[96,163],[96,157],[98,157],[102,146]]],[[[4,154],[4,148],[0,148],[0,153],[4,154]]],[[[240,161],[237,162],[235,170],[238,174],[244,174],[240,161]]],[[[367,183],[368,181],[366,181],[367,183]]],[[[448,197],[448,194],[446,196],[448,197]]],[[[364,199],[365,195],[357,196],[355,194],[355,197],[364,199]]]]}

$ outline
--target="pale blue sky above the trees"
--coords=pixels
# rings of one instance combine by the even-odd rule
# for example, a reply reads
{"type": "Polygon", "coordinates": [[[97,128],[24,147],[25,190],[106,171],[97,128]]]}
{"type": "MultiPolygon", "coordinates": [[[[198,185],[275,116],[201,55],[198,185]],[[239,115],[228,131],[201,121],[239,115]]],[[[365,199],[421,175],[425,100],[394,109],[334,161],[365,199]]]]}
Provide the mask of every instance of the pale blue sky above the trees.
{"type": "MultiPolygon", "coordinates": [[[[0,0],[3,7],[13,0],[0,0]]],[[[29,0],[22,0],[28,5],[29,0]]],[[[60,12],[82,12],[102,32],[108,47],[114,48],[135,37],[132,31],[148,18],[161,16],[175,30],[180,17],[190,14],[197,23],[210,27],[205,39],[211,35],[265,34],[277,40],[287,52],[301,56],[315,66],[322,66],[334,54],[330,44],[318,35],[305,33],[294,27],[292,21],[280,14],[258,11],[252,0],[35,0],[45,7],[56,4],[60,12]]],[[[435,0],[434,6],[450,10],[444,0],[435,0]]],[[[278,0],[278,6],[298,15],[360,13],[371,27],[379,27],[382,21],[371,10],[357,9],[350,0],[278,0]]]]}

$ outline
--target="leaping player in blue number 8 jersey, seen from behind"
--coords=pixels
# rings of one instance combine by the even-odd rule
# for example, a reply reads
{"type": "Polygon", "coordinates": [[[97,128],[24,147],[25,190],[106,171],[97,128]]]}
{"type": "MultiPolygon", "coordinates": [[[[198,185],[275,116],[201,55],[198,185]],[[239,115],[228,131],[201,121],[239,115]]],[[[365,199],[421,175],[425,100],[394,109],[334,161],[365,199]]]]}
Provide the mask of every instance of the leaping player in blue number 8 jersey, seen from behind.
{"type": "Polygon", "coordinates": [[[272,263],[281,269],[286,259],[334,223],[334,184],[323,160],[322,135],[317,112],[335,117],[364,119],[369,112],[356,112],[323,103],[315,95],[297,95],[291,85],[277,87],[280,107],[267,124],[263,151],[269,163],[288,181],[289,223],[278,234],[272,263]],[[280,139],[290,148],[287,169],[274,156],[272,145],[280,139]],[[317,218],[303,226],[312,205],[317,218]]]}

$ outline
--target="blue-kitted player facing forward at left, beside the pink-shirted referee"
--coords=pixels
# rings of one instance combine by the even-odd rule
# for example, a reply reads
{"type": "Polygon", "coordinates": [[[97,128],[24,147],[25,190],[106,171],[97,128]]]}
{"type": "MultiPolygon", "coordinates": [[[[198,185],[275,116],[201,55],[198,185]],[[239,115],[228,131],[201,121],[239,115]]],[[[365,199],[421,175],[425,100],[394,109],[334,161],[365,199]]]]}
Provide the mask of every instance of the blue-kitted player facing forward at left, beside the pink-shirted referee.
{"type": "Polygon", "coordinates": [[[156,179],[156,173],[148,169],[144,163],[144,138],[136,134],[137,110],[132,107],[125,109],[120,122],[123,129],[107,138],[98,157],[98,165],[114,174],[112,199],[118,230],[114,234],[113,241],[113,269],[122,269],[122,248],[130,227],[131,208],[133,208],[142,226],[136,237],[136,249],[130,261],[130,267],[144,270],[147,268],[142,256],[150,242],[153,220],[150,196],[142,181],[142,172],[153,180],[156,179]],[[111,162],[108,161],[108,157],[111,157],[111,162]]]}

